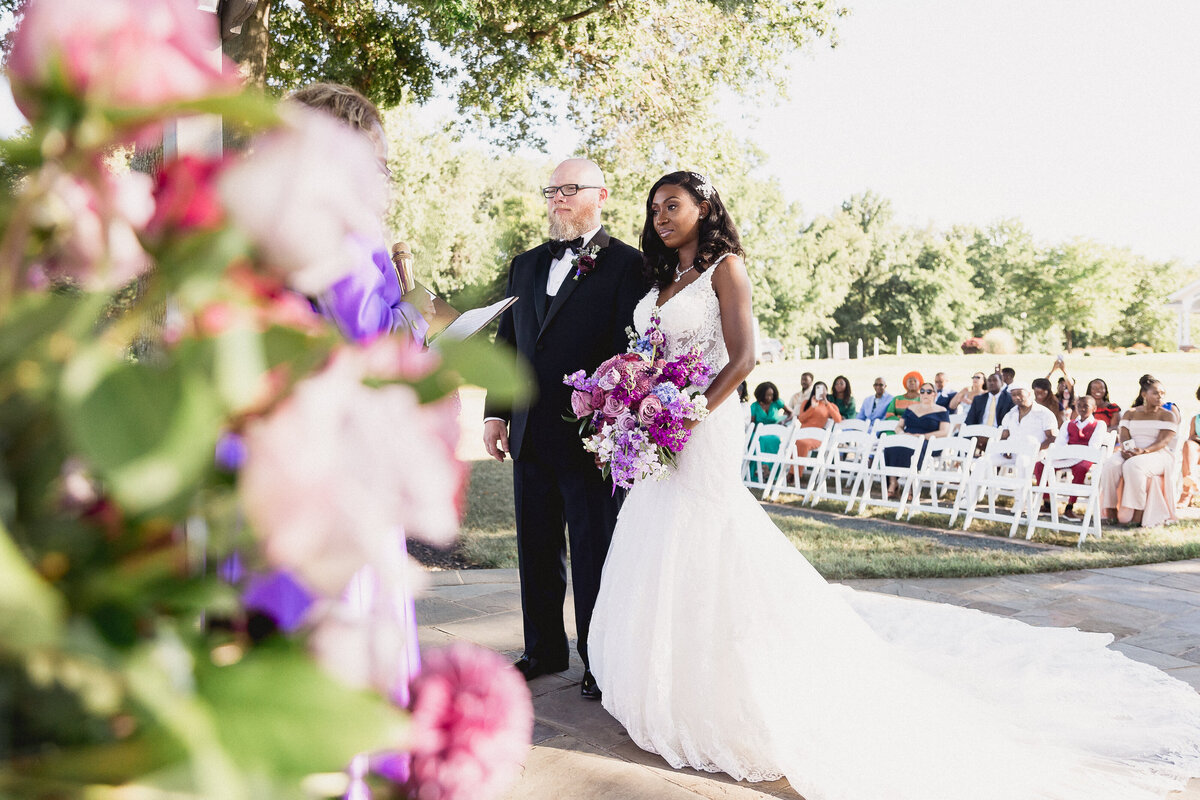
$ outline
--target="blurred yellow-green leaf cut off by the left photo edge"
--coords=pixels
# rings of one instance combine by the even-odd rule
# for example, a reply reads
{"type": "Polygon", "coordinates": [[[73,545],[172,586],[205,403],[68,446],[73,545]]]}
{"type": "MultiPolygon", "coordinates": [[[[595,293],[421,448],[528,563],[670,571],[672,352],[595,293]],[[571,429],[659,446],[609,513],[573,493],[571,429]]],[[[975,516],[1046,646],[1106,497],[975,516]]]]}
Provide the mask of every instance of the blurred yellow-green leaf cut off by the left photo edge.
{"type": "Polygon", "coordinates": [[[0,522],[0,650],[30,650],[62,634],[66,603],[37,575],[0,522]]]}

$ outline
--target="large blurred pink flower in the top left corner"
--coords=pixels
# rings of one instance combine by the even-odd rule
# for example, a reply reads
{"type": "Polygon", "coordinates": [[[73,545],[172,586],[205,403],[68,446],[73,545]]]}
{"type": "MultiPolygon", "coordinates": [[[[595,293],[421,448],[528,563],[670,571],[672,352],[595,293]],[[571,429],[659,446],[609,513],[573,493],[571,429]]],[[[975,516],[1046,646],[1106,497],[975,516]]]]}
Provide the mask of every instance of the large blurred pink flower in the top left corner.
{"type": "Polygon", "coordinates": [[[8,74],[30,119],[61,89],[106,108],[145,108],[236,90],[236,67],[214,56],[217,47],[216,18],[194,2],[31,0],[8,74]]]}

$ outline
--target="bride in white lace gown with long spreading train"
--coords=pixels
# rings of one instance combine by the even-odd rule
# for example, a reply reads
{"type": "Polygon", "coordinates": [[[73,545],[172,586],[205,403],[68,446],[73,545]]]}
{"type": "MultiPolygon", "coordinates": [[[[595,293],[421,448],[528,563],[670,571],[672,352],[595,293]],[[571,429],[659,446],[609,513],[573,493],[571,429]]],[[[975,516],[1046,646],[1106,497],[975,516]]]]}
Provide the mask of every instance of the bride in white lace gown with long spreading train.
{"type": "Polygon", "coordinates": [[[750,281],[712,184],[660,179],[642,251],[635,325],[656,308],[667,357],[696,347],[716,377],[678,469],[630,491],[592,620],[634,741],[806,800],[1138,800],[1200,776],[1200,694],[1111,636],[826,583],[739,477],[750,281]]]}

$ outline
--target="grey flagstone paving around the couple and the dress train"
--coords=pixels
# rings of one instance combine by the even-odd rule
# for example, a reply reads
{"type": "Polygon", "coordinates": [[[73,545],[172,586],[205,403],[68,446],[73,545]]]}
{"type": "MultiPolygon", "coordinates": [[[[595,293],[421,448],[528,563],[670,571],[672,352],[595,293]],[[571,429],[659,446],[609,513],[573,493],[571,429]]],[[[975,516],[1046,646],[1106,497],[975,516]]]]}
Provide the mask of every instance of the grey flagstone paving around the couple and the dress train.
{"type": "MultiPolygon", "coordinates": [[[[516,570],[431,573],[418,602],[421,645],[467,639],[516,657],[521,599],[516,570]]],[[[869,591],[978,608],[1032,625],[1074,626],[1116,636],[1114,648],[1200,690],[1200,559],[1114,570],[997,578],[848,581],[869,591]]],[[[566,619],[572,616],[568,595],[566,619]]],[[[574,633],[568,628],[569,633],[574,633]]],[[[580,697],[583,667],[529,686],[534,747],[506,800],[754,800],[799,798],[786,781],[736,783],[722,775],[672,770],[638,748],[599,703],[580,697]]],[[[965,799],[968,800],[968,799],[965,799]]],[[[1200,781],[1171,800],[1200,800],[1200,781]]]]}

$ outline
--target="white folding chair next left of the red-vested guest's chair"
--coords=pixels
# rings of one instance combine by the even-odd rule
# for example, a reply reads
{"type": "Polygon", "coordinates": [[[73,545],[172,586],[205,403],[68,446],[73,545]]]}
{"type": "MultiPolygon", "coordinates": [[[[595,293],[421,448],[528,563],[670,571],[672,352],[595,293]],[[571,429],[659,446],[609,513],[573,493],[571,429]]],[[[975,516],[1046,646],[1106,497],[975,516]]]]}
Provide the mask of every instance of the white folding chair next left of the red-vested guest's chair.
{"type": "MultiPolygon", "coordinates": [[[[965,512],[962,530],[974,519],[1010,523],[1008,535],[1016,533],[1021,517],[1026,513],[1033,494],[1033,464],[1042,445],[1030,437],[988,439],[988,450],[971,465],[971,475],[964,482],[954,500],[950,524],[965,512]],[[979,501],[986,495],[988,505],[980,510],[979,501]],[[1010,509],[996,505],[1001,497],[1012,498],[1010,509]]],[[[1034,510],[1036,512],[1036,510],[1034,510]]]]}

